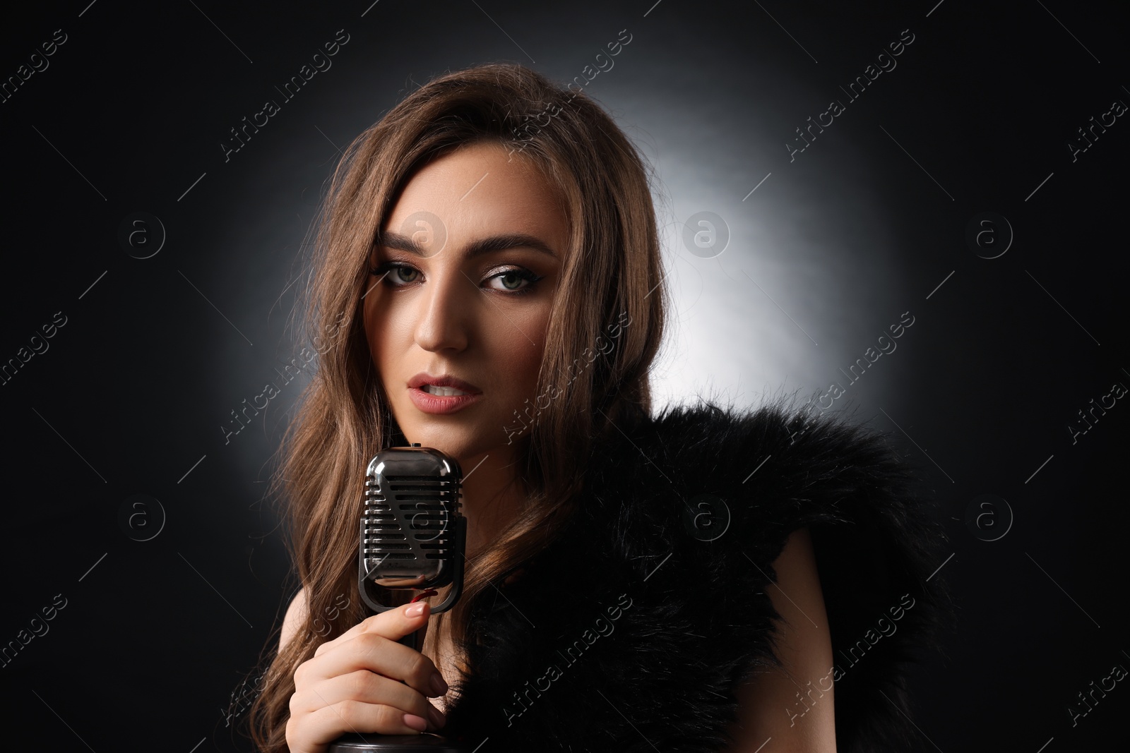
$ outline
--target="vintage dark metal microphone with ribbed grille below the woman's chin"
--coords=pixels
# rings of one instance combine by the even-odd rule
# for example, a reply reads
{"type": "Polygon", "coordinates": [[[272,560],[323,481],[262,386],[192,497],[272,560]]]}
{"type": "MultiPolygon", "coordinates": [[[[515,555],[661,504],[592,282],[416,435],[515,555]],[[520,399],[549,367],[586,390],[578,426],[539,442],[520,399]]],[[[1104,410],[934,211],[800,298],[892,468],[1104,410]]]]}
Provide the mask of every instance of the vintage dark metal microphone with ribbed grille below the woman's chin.
{"type": "MultiPolygon", "coordinates": [[[[463,590],[467,518],[460,513],[463,472],[459,461],[432,447],[389,447],[365,470],[364,513],[357,587],[373,614],[385,605],[374,588],[392,592],[451,586],[443,603],[454,606],[463,590]]],[[[418,631],[398,642],[419,650],[418,631]]],[[[418,735],[342,735],[328,753],[469,753],[470,748],[433,733],[418,735]]]]}

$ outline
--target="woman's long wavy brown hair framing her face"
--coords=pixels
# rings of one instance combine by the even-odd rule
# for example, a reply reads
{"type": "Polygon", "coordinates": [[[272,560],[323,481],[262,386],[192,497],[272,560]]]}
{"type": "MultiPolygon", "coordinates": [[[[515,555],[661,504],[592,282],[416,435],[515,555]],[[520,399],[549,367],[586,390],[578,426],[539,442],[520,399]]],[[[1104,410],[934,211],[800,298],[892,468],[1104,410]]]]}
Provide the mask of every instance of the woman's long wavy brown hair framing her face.
{"type": "MultiPolygon", "coordinates": [[[[267,753],[287,750],[294,671],[366,616],[356,560],[362,469],[382,447],[402,444],[363,327],[370,253],[417,169],[484,141],[503,146],[512,159],[531,160],[559,191],[571,247],[538,380],[537,394],[554,399],[514,406],[515,423],[529,424],[519,444],[529,505],[468,561],[463,598],[440,615],[451,620],[457,646],[467,645],[475,595],[540,551],[567,522],[594,443],[618,434],[621,420],[651,412],[647,374],[662,341],[668,292],[650,173],[598,104],[522,65],[489,63],[434,78],[358,135],[322,204],[306,290],[311,334],[315,344],[328,344],[318,348],[318,368],[287,429],[272,484],[285,504],[287,545],[307,610],[295,638],[267,659],[251,708],[252,738],[267,753]],[[588,364],[586,349],[605,349],[598,338],[615,347],[588,364]]],[[[264,650],[273,646],[272,634],[264,650]]]]}

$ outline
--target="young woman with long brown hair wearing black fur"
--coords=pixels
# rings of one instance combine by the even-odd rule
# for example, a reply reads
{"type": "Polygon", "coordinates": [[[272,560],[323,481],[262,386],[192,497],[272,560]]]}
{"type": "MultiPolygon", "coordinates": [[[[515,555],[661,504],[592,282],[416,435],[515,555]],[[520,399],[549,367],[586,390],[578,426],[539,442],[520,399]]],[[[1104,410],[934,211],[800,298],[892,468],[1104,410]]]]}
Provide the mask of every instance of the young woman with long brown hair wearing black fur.
{"type": "Polygon", "coordinates": [[[278,474],[302,588],[252,710],[261,750],[905,743],[899,667],[941,561],[912,473],[780,401],[652,417],[647,173],[588,96],[510,64],[432,80],[350,146],[316,246],[321,358],[278,474]],[[463,470],[463,596],[368,616],[363,470],[410,443],[463,470]],[[417,630],[420,651],[397,642],[417,630]]]}

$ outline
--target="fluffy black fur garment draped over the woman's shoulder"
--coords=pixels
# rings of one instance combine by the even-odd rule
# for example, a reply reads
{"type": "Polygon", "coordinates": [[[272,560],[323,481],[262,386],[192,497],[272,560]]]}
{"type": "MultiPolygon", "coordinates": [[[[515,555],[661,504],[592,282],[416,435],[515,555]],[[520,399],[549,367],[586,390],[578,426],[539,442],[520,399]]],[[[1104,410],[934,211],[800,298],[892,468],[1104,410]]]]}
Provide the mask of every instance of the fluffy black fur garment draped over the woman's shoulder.
{"type": "Polygon", "coordinates": [[[948,603],[940,576],[925,581],[945,535],[910,465],[815,410],[705,403],[626,423],[596,449],[563,535],[476,598],[443,734],[490,753],[722,750],[736,685],[776,662],[771,563],[808,526],[837,747],[906,750],[902,669],[935,647],[948,603]]]}

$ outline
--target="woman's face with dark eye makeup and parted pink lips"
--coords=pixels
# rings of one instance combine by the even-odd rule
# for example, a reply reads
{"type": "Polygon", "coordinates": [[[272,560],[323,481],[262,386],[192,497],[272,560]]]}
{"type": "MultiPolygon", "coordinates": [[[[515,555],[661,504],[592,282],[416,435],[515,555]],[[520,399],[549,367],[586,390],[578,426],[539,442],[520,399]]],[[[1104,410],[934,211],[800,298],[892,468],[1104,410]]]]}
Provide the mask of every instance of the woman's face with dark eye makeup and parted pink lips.
{"type": "Polygon", "coordinates": [[[567,251],[553,186],[503,147],[469,145],[416,173],[382,231],[365,333],[397,424],[461,464],[512,450],[504,427],[534,402],[567,251]]]}

